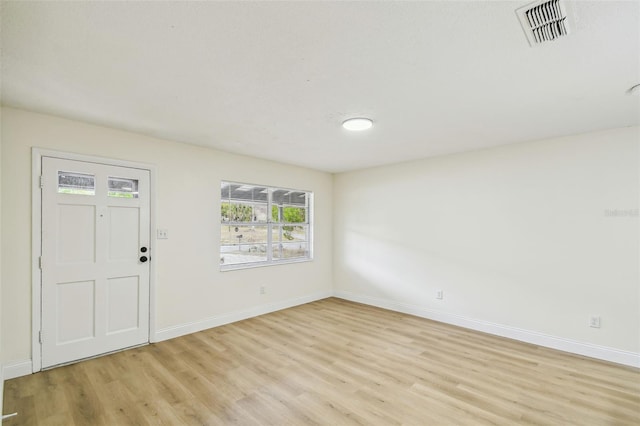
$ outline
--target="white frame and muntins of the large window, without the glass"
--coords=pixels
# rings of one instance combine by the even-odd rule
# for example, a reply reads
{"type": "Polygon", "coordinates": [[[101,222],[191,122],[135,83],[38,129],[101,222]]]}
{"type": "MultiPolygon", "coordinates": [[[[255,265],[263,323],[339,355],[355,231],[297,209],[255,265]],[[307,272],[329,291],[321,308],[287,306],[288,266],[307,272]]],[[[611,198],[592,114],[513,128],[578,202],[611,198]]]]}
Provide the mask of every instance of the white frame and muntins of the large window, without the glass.
{"type": "MultiPolygon", "coordinates": [[[[256,200],[242,200],[242,199],[232,199],[232,198],[223,198],[220,193],[220,208],[218,209],[219,214],[221,214],[222,205],[225,202],[232,202],[235,204],[247,204],[247,205],[256,205],[256,204],[265,204],[267,208],[267,220],[265,222],[242,222],[242,221],[223,221],[222,216],[220,217],[220,225],[222,226],[238,226],[238,227],[246,227],[246,226],[265,226],[267,228],[267,241],[266,243],[266,260],[260,260],[256,262],[245,262],[245,263],[235,263],[235,264],[224,264],[220,263],[220,271],[235,271],[240,269],[248,269],[248,268],[260,268],[264,266],[273,266],[273,265],[283,265],[290,263],[301,263],[301,262],[310,262],[313,260],[313,192],[303,189],[293,189],[293,188],[285,188],[280,186],[271,186],[271,185],[262,185],[262,184],[253,184],[253,183],[242,183],[236,181],[222,180],[220,182],[220,188],[225,185],[239,185],[239,186],[250,186],[250,187],[259,187],[265,188],[268,191],[266,203],[263,201],[256,200]],[[304,208],[306,209],[305,222],[284,222],[284,221],[273,221],[272,220],[272,207],[278,204],[273,203],[272,194],[274,191],[289,191],[289,192],[297,192],[297,193],[305,193],[306,194],[306,203],[304,208]],[[295,257],[295,258],[281,258],[274,259],[273,258],[273,233],[275,229],[280,229],[282,232],[283,226],[306,226],[306,240],[307,244],[307,255],[304,257],[295,257]]],[[[280,205],[278,205],[280,206],[280,205]]],[[[287,204],[284,204],[280,207],[286,207],[287,204]]],[[[303,207],[301,205],[290,204],[291,207],[303,207]]],[[[280,209],[280,214],[282,209],[280,209]]],[[[282,240],[280,238],[280,240],[282,240]]],[[[230,244],[223,244],[222,235],[220,236],[220,259],[222,260],[224,254],[222,251],[223,246],[229,246],[230,244]]]]}

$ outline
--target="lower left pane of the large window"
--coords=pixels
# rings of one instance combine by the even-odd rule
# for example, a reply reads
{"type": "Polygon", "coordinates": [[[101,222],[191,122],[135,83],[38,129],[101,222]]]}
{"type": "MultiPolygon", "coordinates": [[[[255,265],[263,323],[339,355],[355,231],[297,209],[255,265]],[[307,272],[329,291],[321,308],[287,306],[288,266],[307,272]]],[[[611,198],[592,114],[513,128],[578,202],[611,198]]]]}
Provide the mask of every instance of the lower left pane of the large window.
{"type": "Polygon", "coordinates": [[[220,264],[267,260],[267,226],[220,227],[220,264]]]}

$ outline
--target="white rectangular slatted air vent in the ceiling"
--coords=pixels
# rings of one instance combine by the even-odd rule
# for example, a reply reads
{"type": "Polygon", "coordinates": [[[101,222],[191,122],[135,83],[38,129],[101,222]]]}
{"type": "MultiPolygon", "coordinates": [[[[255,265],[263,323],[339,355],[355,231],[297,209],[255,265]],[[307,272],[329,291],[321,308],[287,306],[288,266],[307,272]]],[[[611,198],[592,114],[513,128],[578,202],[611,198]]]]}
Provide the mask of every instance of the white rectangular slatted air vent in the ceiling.
{"type": "Polygon", "coordinates": [[[531,46],[569,34],[567,7],[562,0],[536,1],[516,14],[531,46]]]}

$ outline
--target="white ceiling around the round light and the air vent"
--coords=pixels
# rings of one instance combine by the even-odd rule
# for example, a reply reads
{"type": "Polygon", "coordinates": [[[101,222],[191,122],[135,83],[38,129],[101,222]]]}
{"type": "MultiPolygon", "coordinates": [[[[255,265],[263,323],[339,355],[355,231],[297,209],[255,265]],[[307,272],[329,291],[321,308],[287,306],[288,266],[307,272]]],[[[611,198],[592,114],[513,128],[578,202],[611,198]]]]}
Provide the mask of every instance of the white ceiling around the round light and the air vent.
{"type": "Polygon", "coordinates": [[[3,1],[2,103],[329,172],[640,125],[640,2],[528,3],[3,1]]]}

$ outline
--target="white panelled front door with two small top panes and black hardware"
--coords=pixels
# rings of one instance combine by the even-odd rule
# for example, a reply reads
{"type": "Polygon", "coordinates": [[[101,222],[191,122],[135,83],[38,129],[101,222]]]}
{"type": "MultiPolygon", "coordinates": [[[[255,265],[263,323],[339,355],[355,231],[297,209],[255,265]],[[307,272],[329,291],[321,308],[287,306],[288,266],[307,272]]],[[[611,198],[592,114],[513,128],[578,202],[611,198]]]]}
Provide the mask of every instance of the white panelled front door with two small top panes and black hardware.
{"type": "Polygon", "coordinates": [[[149,171],[42,157],[42,367],[149,341],[149,171]]]}

